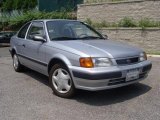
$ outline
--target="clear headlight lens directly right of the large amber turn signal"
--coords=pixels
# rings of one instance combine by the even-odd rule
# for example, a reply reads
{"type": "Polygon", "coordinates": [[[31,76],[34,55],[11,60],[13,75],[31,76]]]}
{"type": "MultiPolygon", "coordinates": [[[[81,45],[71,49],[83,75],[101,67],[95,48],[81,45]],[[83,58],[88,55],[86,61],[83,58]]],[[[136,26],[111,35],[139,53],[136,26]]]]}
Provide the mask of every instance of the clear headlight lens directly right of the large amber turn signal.
{"type": "Polygon", "coordinates": [[[93,58],[93,64],[95,67],[109,67],[112,62],[109,58],[93,58]]]}

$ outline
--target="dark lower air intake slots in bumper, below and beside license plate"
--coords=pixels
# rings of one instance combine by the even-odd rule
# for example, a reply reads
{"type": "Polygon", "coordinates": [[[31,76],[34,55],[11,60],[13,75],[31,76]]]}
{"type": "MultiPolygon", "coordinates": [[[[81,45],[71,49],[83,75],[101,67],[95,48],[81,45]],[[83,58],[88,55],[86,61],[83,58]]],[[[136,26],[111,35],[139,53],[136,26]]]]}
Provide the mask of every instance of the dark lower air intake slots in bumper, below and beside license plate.
{"type": "MultiPolygon", "coordinates": [[[[138,79],[144,78],[145,76],[146,76],[146,73],[141,73],[139,75],[138,79]]],[[[127,81],[127,82],[126,82],[126,78],[114,79],[114,80],[109,81],[108,86],[118,85],[118,84],[122,84],[122,83],[128,83],[128,82],[132,82],[132,81],[135,81],[135,80],[138,80],[138,79],[134,79],[134,80],[127,81]]]]}

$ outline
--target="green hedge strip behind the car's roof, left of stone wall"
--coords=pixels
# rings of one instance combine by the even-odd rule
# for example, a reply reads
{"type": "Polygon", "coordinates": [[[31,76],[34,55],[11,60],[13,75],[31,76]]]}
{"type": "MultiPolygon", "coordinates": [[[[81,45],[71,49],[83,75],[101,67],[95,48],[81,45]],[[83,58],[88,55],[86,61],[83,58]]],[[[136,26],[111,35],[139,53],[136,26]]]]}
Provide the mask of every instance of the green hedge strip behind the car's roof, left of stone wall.
{"type": "MultiPolygon", "coordinates": [[[[1,19],[2,17],[0,17],[1,19]]],[[[68,12],[39,12],[27,11],[25,13],[15,14],[12,16],[3,15],[3,29],[18,30],[25,23],[36,19],[76,19],[73,13],[68,12]]]]}

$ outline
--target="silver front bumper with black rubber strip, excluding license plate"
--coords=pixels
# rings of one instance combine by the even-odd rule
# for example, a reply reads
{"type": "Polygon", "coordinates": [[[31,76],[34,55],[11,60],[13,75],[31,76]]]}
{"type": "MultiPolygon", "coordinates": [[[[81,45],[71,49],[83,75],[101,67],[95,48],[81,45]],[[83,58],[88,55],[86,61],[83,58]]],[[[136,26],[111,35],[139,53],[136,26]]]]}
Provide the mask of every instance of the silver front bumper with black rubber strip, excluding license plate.
{"type": "Polygon", "coordinates": [[[73,82],[78,89],[97,91],[136,83],[147,77],[152,68],[150,61],[125,66],[82,68],[70,66],[73,82]],[[126,81],[127,71],[139,70],[139,77],[126,81]]]}

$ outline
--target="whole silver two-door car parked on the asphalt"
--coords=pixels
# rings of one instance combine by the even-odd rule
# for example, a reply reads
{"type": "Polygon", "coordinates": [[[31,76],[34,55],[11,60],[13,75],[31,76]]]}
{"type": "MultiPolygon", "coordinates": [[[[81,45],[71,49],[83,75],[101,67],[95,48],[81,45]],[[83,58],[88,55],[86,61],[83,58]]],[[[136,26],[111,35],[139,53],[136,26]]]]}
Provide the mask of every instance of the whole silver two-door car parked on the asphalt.
{"type": "Polygon", "coordinates": [[[143,80],[152,64],[141,49],[105,38],[77,20],[35,20],[11,38],[15,71],[24,67],[49,76],[54,93],[71,97],[143,80]]]}

